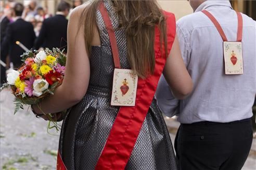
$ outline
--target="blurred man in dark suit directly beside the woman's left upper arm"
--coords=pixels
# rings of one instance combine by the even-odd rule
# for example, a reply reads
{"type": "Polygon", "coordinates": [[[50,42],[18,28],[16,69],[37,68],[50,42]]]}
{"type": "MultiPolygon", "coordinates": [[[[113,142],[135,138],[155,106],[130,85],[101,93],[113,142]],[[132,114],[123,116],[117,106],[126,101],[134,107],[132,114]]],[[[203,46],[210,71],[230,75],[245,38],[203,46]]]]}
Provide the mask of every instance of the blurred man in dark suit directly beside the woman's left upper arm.
{"type": "Polygon", "coordinates": [[[60,2],[56,16],[44,20],[39,37],[35,41],[35,49],[40,47],[52,49],[65,48],[67,51],[67,28],[70,5],[60,2]]]}

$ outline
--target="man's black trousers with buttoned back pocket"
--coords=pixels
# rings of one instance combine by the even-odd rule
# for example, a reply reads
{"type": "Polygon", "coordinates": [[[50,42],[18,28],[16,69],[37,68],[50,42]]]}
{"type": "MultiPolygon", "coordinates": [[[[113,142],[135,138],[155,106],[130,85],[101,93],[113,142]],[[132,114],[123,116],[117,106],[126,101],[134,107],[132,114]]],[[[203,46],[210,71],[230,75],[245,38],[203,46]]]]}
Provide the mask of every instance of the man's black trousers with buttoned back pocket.
{"type": "Polygon", "coordinates": [[[237,170],[252,144],[250,119],[229,123],[181,124],[175,138],[180,170],[237,170]]]}

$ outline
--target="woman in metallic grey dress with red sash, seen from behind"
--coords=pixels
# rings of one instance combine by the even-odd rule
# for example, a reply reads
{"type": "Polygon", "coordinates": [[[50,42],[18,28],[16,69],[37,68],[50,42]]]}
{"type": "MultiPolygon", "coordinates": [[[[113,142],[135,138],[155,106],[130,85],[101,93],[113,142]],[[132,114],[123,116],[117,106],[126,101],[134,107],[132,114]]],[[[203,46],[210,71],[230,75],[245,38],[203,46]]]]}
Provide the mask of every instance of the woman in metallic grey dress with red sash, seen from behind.
{"type": "MultiPolygon", "coordinates": [[[[75,8],[62,85],[41,108],[33,105],[38,115],[70,108],[62,123],[57,168],[176,169],[171,139],[153,97],[162,73],[177,98],[191,92],[175,38],[175,17],[155,0],[97,0],[75,8]],[[112,105],[117,85],[113,75],[120,69],[138,76],[134,106],[112,105]]],[[[125,96],[132,82],[124,78],[122,83],[125,96]]]]}

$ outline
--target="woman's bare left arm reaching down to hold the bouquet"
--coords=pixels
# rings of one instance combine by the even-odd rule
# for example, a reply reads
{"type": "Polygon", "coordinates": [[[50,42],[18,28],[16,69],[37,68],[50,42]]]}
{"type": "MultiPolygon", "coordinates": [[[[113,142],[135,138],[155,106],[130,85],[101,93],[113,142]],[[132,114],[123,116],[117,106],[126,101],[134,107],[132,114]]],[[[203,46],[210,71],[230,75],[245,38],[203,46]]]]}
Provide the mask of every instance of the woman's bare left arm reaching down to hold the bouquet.
{"type": "MultiPolygon", "coordinates": [[[[77,8],[71,13],[67,33],[68,53],[65,77],[54,95],[39,104],[45,114],[70,108],[81,101],[87,91],[90,68],[85,48],[84,28],[79,29],[82,10],[83,8],[77,8]]],[[[33,105],[33,108],[37,114],[42,114],[37,105],[33,105]]]]}

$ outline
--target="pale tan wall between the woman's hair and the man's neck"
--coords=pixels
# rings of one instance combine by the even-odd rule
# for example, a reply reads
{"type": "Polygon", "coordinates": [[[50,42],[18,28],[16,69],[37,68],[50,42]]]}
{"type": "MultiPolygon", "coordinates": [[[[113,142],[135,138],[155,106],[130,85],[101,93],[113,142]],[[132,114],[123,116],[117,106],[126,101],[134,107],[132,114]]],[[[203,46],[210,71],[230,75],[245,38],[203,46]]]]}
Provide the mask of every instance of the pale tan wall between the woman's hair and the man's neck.
{"type": "Polygon", "coordinates": [[[190,7],[189,2],[186,0],[163,0],[158,1],[158,3],[162,7],[162,9],[174,13],[176,16],[176,20],[193,12],[193,9],[190,7]]]}

